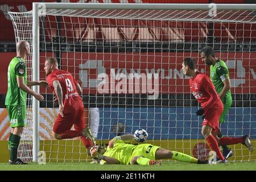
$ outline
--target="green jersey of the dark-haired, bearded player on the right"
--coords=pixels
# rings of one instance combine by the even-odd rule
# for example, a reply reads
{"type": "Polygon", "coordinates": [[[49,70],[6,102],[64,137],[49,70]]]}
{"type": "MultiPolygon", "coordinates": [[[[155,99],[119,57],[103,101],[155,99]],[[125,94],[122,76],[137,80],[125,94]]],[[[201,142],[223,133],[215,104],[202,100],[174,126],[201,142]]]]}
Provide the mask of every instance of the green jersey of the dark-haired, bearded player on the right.
{"type": "MultiPolygon", "coordinates": [[[[226,78],[229,78],[229,69],[224,61],[218,59],[214,66],[210,65],[210,80],[212,80],[218,94],[220,94],[221,90],[224,88],[222,81],[224,81],[226,78]]],[[[226,96],[231,96],[230,90],[228,93],[226,93],[226,96]]]]}

